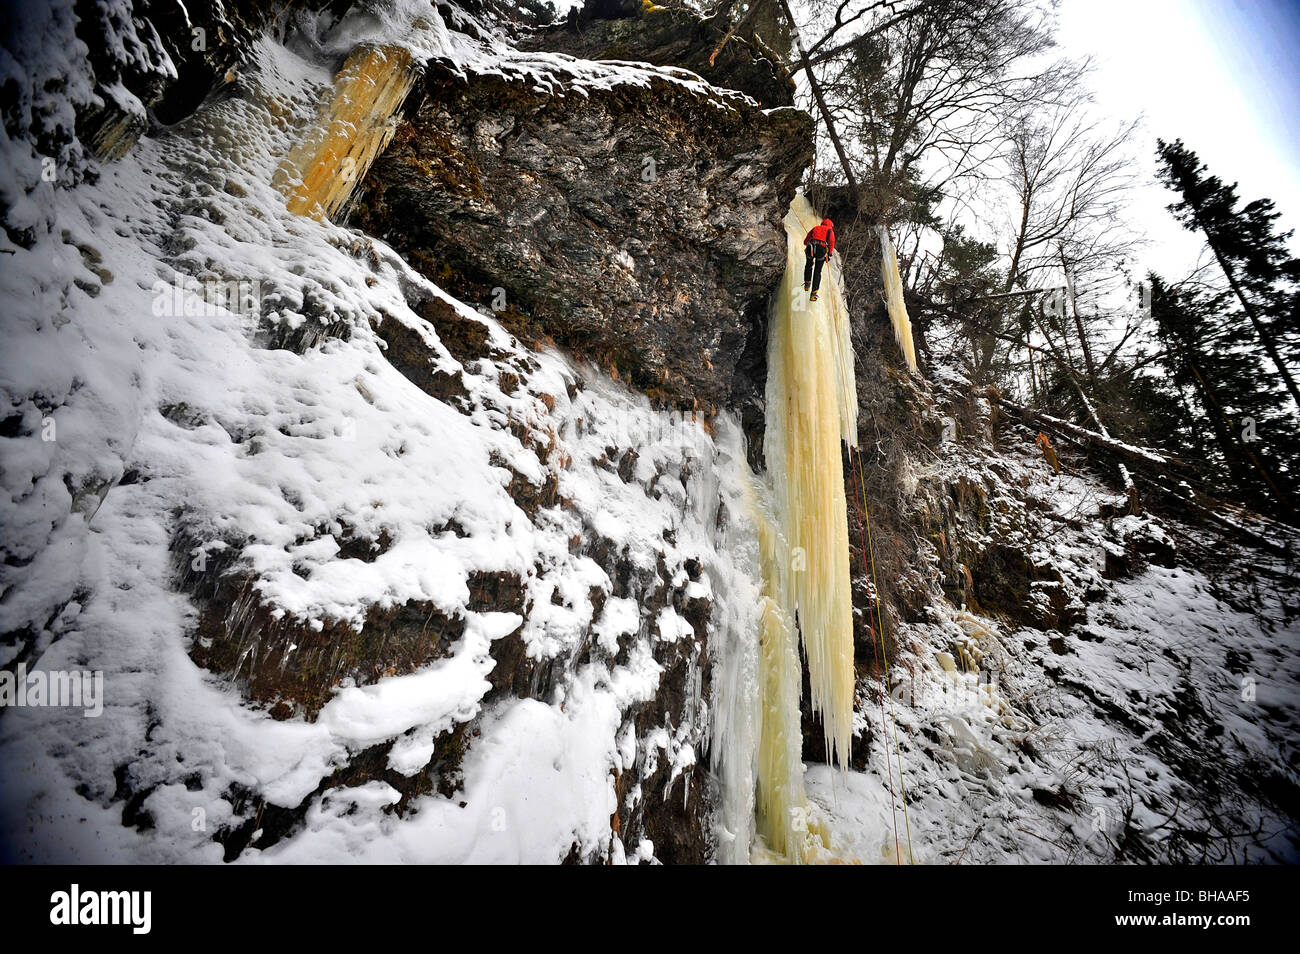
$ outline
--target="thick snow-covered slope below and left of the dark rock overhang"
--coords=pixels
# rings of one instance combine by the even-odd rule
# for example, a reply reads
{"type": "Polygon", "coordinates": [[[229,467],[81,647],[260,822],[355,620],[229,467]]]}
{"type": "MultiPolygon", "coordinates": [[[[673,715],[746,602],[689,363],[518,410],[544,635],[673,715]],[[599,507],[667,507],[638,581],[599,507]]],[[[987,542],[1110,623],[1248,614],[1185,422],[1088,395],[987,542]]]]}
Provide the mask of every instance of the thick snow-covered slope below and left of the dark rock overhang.
{"type": "MultiPolygon", "coordinates": [[[[474,56],[488,64],[482,47],[474,56]]],[[[525,351],[381,242],[291,216],[270,182],[330,73],[272,39],[254,64],[235,94],[96,183],[38,186],[31,216],[48,233],[4,248],[17,307],[0,372],[13,432],[0,632],[20,638],[0,651],[32,669],[103,671],[107,691],[98,719],[4,712],[0,831],[25,833],[6,855],[217,862],[214,836],[278,807],[300,825],[264,850],[254,832],[240,860],[653,857],[647,840],[624,849],[611,818],[618,798],[667,792],[616,780],[663,766],[677,798],[703,785],[681,775],[707,741],[708,634],[671,599],[651,611],[610,595],[615,581],[584,551],[599,541],[670,597],[711,600],[710,628],[740,625],[750,574],[722,548],[719,516],[738,493],[737,428],[722,420],[715,439],[556,352],[525,351]],[[222,281],[255,282],[260,313],[205,303],[222,281]],[[429,303],[484,328],[490,356],[458,360],[417,315],[429,303]],[[424,343],[430,374],[459,380],[459,399],[386,360],[393,322],[424,343]],[[562,506],[523,511],[508,489],[519,480],[552,481],[562,506]],[[344,556],[352,538],[385,546],[344,556]],[[205,572],[251,580],[259,606],[307,632],[404,604],[464,632],[429,665],[344,680],[313,719],[278,720],[191,658],[199,607],[183,585],[205,572]],[[521,578],[526,613],[474,610],[476,572],[521,578]],[[493,643],[515,634],[529,659],[562,667],[549,697],[490,693],[493,643]],[[685,708],[638,733],[629,714],[679,645],[697,660],[685,708]],[[382,780],[321,790],[376,745],[415,776],[467,721],[474,741],[451,795],[398,814],[382,780]]],[[[646,70],[593,73],[640,83],[646,70]]]]}

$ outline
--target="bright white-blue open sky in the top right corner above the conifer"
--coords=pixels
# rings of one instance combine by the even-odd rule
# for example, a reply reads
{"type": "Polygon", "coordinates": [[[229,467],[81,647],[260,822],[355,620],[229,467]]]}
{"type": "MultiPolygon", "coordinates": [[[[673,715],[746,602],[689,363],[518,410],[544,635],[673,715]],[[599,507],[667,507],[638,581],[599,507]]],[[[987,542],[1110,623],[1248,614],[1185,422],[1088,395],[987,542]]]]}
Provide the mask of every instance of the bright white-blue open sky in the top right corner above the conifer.
{"type": "MultiPolygon", "coordinates": [[[[1182,138],[1243,200],[1268,196],[1300,226],[1300,0],[1062,0],[1060,27],[1062,52],[1096,60],[1098,107],[1145,117],[1148,179],[1156,138],[1182,138]]],[[[1132,218],[1152,239],[1144,264],[1176,279],[1200,242],[1165,211],[1171,195],[1140,190],[1132,218]]]]}

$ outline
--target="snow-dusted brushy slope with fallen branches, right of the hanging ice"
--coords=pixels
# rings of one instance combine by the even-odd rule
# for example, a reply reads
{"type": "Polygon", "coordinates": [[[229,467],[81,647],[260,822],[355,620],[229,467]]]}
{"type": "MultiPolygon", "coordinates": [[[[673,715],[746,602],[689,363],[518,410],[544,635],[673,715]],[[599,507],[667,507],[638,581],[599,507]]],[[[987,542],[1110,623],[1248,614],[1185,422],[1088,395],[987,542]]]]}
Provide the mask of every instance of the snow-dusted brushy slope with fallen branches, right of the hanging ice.
{"type": "Polygon", "coordinates": [[[1014,447],[950,448],[919,474],[957,478],[985,489],[992,538],[1056,569],[1086,620],[1031,628],[936,600],[931,621],[905,625],[892,698],[859,701],[870,771],[809,776],[837,849],[885,863],[1295,863],[1294,569],[1154,517],[1106,519],[1114,491],[1014,447]],[[1106,578],[1108,551],[1134,539],[1179,556],[1106,578]],[[1213,551],[1223,560],[1186,565],[1213,551]]]}

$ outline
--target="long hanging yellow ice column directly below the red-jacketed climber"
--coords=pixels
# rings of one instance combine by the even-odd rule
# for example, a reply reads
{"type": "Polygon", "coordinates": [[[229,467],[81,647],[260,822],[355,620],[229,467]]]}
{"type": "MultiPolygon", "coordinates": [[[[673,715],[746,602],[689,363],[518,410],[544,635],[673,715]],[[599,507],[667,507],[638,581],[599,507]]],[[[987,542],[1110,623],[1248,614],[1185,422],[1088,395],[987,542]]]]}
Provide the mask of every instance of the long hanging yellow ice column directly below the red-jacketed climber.
{"type": "MultiPolygon", "coordinates": [[[[807,200],[796,196],[785,216],[788,263],[770,329],[764,455],[780,528],[772,559],[788,580],[771,595],[785,620],[798,621],[827,754],[845,764],[854,671],[840,442],[857,446],[857,390],[838,259],[828,263],[819,302],[810,303],[803,291],[803,237],[819,221],[807,200]]],[[[764,624],[764,636],[767,629],[764,624]]],[[[760,749],[770,751],[768,740],[760,749]]]]}

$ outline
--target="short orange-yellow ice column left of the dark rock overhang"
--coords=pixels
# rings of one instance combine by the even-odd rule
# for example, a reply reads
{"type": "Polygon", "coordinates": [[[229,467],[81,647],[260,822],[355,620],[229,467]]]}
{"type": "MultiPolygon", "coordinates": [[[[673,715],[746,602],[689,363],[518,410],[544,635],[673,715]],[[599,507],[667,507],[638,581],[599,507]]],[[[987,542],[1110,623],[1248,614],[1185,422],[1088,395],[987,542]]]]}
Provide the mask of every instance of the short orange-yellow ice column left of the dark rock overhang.
{"type": "Polygon", "coordinates": [[[290,212],[330,218],[343,207],[396,131],[396,110],[417,77],[403,47],[360,45],[348,55],[318,123],[276,172],[290,212]]]}

